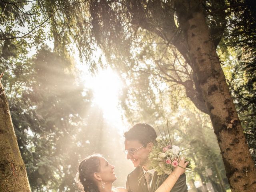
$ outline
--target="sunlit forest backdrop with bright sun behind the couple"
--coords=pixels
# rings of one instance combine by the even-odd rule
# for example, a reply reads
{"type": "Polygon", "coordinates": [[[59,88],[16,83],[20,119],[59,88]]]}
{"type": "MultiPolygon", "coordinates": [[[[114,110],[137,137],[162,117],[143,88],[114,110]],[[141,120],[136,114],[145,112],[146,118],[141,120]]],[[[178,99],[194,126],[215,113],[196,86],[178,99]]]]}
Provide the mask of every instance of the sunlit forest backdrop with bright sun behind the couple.
{"type": "MultiPolygon", "coordinates": [[[[196,2],[255,165],[255,2],[196,2]]],[[[0,7],[2,84],[32,191],[77,191],[78,163],[93,152],[116,166],[115,185],[124,186],[132,165],[120,155],[122,133],[136,122],[163,131],[167,120],[177,144],[192,148],[196,172],[186,172],[187,181],[229,190],[195,72],[177,48],[182,29],[171,1],[0,0],[0,7]]]]}

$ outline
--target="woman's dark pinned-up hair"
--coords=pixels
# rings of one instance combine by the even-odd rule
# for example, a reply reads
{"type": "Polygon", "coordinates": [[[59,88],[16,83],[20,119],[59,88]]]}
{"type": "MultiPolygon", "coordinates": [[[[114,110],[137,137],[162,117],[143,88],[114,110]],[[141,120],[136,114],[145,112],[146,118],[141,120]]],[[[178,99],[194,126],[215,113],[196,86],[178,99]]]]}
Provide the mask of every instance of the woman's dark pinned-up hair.
{"type": "Polygon", "coordinates": [[[99,192],[94,181],[94,173],[100,172],[100,157],[102,157],[100,154],[90,155],[82,160],[78,166],[79,180],[85,192],[99,192]]]}

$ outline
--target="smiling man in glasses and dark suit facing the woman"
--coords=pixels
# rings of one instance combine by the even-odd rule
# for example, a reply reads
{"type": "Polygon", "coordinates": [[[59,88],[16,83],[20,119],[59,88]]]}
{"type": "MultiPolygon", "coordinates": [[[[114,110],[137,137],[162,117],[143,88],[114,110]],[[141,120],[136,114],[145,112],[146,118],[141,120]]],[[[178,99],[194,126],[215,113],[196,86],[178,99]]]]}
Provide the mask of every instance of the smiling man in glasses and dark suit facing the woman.
{"type": "MultiPolygon", "coordinates": [[[[127,176],[126,189],[128,192],[154,192],[168,175],[158,176],[150,169],[148,154],[156,144],[156,131],[150,125],[138,123],[124,133],[125,152],[136,167],[127,176]]],[[[187,192],[186,175],[182,174],[171,192],[187,192]]]]}

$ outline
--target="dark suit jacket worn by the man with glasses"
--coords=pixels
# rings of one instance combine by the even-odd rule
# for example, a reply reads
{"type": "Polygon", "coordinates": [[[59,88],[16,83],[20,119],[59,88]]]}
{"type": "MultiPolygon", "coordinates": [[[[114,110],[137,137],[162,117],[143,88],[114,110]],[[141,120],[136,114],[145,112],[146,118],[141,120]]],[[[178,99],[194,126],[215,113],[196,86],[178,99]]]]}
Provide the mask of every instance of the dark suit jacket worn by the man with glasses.
{"type": "MultiPolygon", "coordinates": [[[[136,167],[132,172],[127,176],[126,189],[128,192],[154,192],[156,189],[164,182],[168,175],[158,176],[157,173],[154,173],[150,191],[146,184],[144,178],[144,172],[141,166],[136,167]],[[157,182],[157,178],[159,180],[157,182]]],[[[182,174],[176,184],[173,186],[171,192],[187,192],[188,186],[186,184],[186,175],[182,174]]]]}

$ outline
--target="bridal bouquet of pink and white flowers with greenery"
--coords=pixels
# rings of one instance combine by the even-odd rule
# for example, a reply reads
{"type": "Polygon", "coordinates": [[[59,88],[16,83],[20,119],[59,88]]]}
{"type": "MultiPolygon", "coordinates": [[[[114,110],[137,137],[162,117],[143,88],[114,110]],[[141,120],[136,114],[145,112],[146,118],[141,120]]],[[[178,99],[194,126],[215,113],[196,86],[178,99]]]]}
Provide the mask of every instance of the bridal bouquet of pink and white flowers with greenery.
{"type": "MultiPolygon", "coordinates": [[[[169,131],[168,131],[169,132],[169,131]]],[[[179,166],[180,157],[182,156],[182,151],[179,146],[172,145],[169,135],[158,136],[156,138],[157,145],[155,145],[150,152],[149,160],[151,162],[150,168],[154,168],[158,175],[171,174],[172,170],[176,166],[179,166]]],[[[185,149],[186,150],[186,149],[185,149]]],[[[191,160],[185,158],[185,162],[189,164],[186,168],[191,168],[191,160]]]]}

